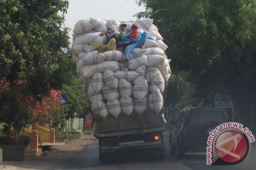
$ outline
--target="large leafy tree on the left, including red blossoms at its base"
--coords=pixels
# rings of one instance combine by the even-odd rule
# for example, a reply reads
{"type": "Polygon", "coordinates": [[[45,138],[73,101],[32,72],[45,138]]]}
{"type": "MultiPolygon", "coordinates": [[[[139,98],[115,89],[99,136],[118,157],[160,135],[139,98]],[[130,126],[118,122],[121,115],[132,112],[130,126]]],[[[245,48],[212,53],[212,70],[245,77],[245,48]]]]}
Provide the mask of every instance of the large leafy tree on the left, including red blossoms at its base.
{"type": "Polygon", "coordinates": [[[68,28],[63,28],[67,8],[67,0],[0,1],[0,81],[10,89],[0,93],[1,121],[19,128],[25,123],[21,118],[33,113],[32,104],[46,113],[44,98],[74,74],[67,62],[68,28]]]}

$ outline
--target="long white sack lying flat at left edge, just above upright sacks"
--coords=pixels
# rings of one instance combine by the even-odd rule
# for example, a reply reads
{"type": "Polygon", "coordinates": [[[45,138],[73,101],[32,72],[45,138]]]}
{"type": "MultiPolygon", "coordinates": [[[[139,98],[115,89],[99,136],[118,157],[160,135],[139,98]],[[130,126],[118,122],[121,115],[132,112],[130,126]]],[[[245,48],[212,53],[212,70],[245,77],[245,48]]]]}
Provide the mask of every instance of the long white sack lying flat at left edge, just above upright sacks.
{"type": "Polygon", "coordinates": [[[112,72],[116,72],[119,70],[119,64],[114,61],[105,61],[100,64],[87,65],[82,68],[82,75],[90,78],[96,72],[104,72],[105,69],[110,69],[112,72]]]}

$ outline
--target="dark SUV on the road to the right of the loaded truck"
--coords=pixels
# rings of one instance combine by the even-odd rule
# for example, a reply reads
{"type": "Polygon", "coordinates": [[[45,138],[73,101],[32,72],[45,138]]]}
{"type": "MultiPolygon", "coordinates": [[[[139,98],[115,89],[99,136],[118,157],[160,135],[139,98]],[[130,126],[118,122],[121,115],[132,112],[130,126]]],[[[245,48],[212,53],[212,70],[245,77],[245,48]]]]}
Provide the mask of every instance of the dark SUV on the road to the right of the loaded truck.
{"type": "Polygon", "coordinates": [[[209,132],[228,121],[225,111],[217,108],[184,108],[172,122],[170,154],[183,157],[187,151],[206,151],[209,132]]]}

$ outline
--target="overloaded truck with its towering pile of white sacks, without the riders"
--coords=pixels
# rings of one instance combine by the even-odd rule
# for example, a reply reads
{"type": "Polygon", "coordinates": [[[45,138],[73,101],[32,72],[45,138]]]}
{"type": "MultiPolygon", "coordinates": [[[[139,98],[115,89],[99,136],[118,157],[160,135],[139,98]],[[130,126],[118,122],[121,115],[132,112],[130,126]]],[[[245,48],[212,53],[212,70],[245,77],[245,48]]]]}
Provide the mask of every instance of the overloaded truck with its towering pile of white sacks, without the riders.
{"type": "Polygon", "coordinates": [[[78,21],[73,30],[73,59],[91,103],[100,161],[124,151],[164,159],[164,94],[171,76],[167,45],[153,20],[141,18],[134,23],[150,38],[132,50],[129,64],[119,50],[95,49],[95,42],[107,43],[102,31],[121,23],[129,33],[133,22],[101,18],[78,21]]]}

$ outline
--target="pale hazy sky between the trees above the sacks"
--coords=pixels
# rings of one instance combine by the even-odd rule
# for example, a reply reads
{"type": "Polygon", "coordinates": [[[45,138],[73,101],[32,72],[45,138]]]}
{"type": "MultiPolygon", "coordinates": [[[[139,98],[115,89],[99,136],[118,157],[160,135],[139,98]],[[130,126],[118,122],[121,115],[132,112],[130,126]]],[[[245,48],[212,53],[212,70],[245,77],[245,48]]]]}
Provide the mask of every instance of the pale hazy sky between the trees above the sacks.
{"type": "Polygon", "coordinates": [[[138,6],[135,0],[69,0],[65,26],[71,28],[69,36],[72,38],[75,23],[82,19],[136,21],[134,14],[140,11],[145,11],[145,8],[138,6]]]}

